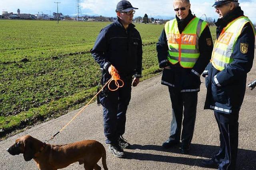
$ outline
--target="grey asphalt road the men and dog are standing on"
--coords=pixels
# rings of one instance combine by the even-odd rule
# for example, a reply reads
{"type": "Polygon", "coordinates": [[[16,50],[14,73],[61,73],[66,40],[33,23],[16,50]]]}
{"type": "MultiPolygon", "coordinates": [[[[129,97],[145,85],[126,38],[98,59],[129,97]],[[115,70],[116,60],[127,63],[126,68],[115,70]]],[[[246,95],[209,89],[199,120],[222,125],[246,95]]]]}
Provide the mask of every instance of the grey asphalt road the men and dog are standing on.
{"type": "MultiPolygon", "coordinates": [[[[256,58],[256,55],[255,55],[256,58]]],[[[256,59],[250,73],[248,83],[256,78],[256,59]]],[[[141,82],[132,88],[132,100],[127,111],[126,133],[124,137],[132,145],[125,149],[126,158],[114,157],[107,150],[107,165],[109,170],[209,170],[200,167],[203,158],[211,158],[218,151],[219,132],[213,111],[203,110],[206,96],[204,83],[198,95],[198,107],[194,138],[190,155],[180,153],[177,148],[164,150],[162,142],[168,139],[171,105],[168,88],[160,84],[161,75],[141,82]]],[[[204,82],[204,79],[201,78],[204,82]]],[[[12,156],[6,152],[15,139],[29,134],[44,141],[54,135],[62,126],[79,111],[63,115],[28,129],[18,135],[0,142],[0,170],[36,170],[33,160],[25,162],[23,156],[12,156]]],[[[239,117],[239,149],[237,158],[238,170],[256,169],[256,89],[246,89],[244,104],[239,117]]],[[[65,144],[75,141],[92,139],[104,144],[102,107],[91,104],[62,133],[56,136],[50,144],[65,144]]],[[[101,160],[99,163],[100,166],[101,160]]],[[[78,162],[71,164],[65,170],[83,170],[78,162]]]]}

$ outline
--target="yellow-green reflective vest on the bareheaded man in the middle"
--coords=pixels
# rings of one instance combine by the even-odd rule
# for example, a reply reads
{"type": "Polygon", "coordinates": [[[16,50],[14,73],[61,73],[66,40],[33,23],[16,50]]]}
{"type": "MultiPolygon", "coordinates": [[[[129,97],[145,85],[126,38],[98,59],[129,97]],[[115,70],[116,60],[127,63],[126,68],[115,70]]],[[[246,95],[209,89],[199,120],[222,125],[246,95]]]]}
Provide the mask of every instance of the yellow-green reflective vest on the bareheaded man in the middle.
{"type": "Polygon", "coordinates": [[[168,42],[168,56],[170,63],[184,68],[193,68],[200,55],[198,40],[207,23],[199,18],[193,18],[180,34],[176,19],[168,21],[164,30],[168,42]]]}

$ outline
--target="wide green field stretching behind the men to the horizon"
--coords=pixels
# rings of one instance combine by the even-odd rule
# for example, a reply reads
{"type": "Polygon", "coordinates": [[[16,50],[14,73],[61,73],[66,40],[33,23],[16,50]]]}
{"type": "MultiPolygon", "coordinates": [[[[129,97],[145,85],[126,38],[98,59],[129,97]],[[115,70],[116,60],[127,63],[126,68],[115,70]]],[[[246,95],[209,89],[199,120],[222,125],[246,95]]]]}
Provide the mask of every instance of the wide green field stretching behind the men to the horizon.
{"type": "MultiPolygon", "coordinates": [[[[0,20],[0,137],[63,115],[94,96],[100,70],[89,51],[108,24],[0,20]]],[[[144,44],[144,79],[161,71],[155,43],[163,27],[136,24],[144,44]]]]}

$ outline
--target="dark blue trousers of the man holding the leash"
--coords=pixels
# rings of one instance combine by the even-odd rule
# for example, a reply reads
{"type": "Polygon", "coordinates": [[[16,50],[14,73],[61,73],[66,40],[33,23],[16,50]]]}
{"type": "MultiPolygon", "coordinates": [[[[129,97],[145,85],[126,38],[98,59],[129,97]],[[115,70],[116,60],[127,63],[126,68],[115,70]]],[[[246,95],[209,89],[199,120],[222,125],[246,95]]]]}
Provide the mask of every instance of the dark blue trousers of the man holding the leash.
{"type": "MultiPolygon", "coordinates": [[[[104,135],[106,143],[117,143],[118,137],[124,134],[126,110],[131,99],[132,76],[121,77],[124,86],[116,91],[104,90],[100,95],[100,104],[103,106],[104,135]]],[[[110,88],[115,89],[114,82],[110,88]]]]}

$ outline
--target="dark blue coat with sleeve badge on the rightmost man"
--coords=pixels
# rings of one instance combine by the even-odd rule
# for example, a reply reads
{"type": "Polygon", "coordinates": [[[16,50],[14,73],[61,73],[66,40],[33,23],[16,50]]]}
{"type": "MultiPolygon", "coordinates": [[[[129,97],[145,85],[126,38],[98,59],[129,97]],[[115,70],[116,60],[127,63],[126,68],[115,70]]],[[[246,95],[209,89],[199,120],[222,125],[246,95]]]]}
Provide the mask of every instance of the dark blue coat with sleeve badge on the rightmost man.
{"type": "MultiPolygon", "coordinates": [[[[217,39],[222,29],[240,16],[244,16],[244,12],[238,7],[224,18],[218,19],[216,22],[217,39]]],[[[234,61],[222,71],[215,69],[212,63],[208,64],[203,74],[203,76],[208,75],[206,76],[207,95],[204,109],[213,109],[227,114],[239,111],[244,100],[246,76],[253,64],[254,43],[253,28],[250,23],[246,23],[234,46],[232,53],[234,61]],[[245,54],[241,52],[241,43],[248,44],[248,51],[245,54]]]]}

